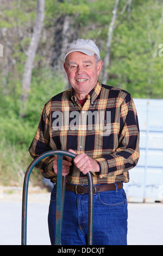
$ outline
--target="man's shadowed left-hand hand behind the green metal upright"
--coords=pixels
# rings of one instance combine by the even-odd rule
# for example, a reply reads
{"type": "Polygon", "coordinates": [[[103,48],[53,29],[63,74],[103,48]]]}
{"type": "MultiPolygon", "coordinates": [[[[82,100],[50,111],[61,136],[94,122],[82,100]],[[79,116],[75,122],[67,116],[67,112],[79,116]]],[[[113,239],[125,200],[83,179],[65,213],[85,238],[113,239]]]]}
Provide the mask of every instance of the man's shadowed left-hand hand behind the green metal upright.
{"type": "MultiPolygon", "coordinates": [[[[70,166],[72,165],[71,161],[72,161],[71,157],[69,157],[69,156],[64,156],[63,157],[63,160],[62,160],[62,176],[66,176],[70,172],[70,166]]],[[[57,174],[57,155],[54,156],[53,169],[54,169],[54,173],[57,174]]]]}

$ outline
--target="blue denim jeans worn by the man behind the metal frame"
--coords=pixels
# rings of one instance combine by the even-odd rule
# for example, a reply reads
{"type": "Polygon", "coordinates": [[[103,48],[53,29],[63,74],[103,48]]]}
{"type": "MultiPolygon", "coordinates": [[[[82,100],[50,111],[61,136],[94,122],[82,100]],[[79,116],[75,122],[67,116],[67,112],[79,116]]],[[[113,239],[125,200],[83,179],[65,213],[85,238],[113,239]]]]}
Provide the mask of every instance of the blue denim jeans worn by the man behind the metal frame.
{"type": "MultiPolygon", "coordinates": [[[[48,227],[55,243],[56,191],[49,204],[48,227]]],[[[88,194],[66,191],[61,245],[87,245],[88,194]]],[[[93,245],[127,245],[127,199],[123,188],[94,194],[93,245]]]]}

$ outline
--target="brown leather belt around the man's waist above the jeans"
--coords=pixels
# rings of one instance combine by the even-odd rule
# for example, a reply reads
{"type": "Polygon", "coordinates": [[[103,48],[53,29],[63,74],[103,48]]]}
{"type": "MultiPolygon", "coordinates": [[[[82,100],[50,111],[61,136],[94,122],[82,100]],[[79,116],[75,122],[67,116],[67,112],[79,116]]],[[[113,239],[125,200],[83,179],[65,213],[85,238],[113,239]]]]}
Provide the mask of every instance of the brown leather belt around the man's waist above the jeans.
{"type": "MultiPolygon", "coordinates": [[[[118,190],[120,188],[123,188],[122,182],[116,182],[118,190]]],[[[73,185],[73,184],[66,184],[66,190],[74,192],[76,194],[88,194],[89,193],[89,186],[84,186],[84,185],[73,185]]],[[[104,185],[97,185],[93,186],[93,192],[98,193],[98,192],[104,192],[104,191],[111,191],[111,190],[116,190],[116,186],[114,183],[111,184],[104,184],[104,185]]]]}

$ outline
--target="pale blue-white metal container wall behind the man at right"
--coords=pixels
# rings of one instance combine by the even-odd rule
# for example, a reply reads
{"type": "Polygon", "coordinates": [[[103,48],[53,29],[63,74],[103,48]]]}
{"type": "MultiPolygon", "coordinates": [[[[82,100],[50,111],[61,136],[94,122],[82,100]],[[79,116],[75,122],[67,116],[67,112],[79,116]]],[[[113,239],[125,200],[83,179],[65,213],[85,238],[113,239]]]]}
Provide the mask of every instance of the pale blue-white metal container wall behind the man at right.
{"type": "Polygon", "coordinates": [[[140,126],[140,160],[124,184],[128,202],[163,200],[163,100],[134,99],[140,126]]]}

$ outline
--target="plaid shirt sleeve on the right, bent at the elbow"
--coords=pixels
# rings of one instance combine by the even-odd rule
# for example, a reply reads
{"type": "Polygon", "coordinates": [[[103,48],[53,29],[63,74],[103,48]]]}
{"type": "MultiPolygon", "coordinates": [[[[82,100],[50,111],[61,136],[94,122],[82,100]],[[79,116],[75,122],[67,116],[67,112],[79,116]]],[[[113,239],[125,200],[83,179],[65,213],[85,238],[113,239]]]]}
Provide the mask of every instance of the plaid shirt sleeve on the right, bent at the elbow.
{"type": "Polygon", "coordinates": [[[127,172],[135,167],[139,160],[139,123],[134,101],[130,94],[127,94],[119,109],[118,147],[113,153],[96,159],[100,168],[98,174],[100,178],[127,172]]]}

